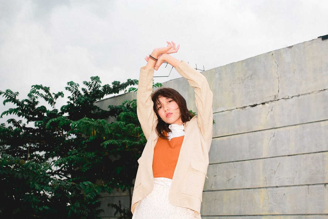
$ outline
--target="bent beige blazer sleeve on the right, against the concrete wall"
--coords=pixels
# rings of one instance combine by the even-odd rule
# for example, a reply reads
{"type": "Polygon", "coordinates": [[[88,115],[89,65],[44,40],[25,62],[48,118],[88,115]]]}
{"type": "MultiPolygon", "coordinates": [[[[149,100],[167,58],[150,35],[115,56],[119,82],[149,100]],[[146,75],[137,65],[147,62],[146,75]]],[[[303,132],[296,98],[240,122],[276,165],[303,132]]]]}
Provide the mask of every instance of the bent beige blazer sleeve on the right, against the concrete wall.
{"type": "MultiPolygon", "coordinates": [[[[182,61],[176,71],[188,80],[190,86],[195,87],[195,104],[198,110],[198,127],[205,140],[212,140],[213,130],[213,93],[208,82],[201,73],[197,72],[186,61],[182,61]]],[[[210,146],[210,145],[209,145],[210,146]]],[[[210,148],[208,148],[209,150],[210,148]]]]}

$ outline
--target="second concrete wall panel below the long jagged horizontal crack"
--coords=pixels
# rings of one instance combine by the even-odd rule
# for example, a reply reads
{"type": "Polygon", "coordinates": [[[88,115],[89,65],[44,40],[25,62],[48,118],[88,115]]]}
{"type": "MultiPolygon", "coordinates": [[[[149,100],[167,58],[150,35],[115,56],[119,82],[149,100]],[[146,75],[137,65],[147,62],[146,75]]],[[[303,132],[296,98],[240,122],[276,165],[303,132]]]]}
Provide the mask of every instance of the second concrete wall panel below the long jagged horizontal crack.
{"type": "Polygon", "coordinates": [[[210,164],[328,151],[328,121],[215,138],[210,164]]]}

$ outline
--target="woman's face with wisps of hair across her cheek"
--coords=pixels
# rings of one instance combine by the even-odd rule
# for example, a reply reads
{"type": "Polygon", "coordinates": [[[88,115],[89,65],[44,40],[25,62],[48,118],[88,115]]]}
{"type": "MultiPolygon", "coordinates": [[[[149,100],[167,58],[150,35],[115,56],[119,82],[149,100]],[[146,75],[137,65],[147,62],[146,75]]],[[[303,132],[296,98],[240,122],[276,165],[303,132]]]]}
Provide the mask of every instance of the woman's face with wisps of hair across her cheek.
{"type": "Polygon", "coordinates": [[[159,97],[156,105],[157,114],[167,124],[182,125],[178,104],[171,98],[159,97]]]}

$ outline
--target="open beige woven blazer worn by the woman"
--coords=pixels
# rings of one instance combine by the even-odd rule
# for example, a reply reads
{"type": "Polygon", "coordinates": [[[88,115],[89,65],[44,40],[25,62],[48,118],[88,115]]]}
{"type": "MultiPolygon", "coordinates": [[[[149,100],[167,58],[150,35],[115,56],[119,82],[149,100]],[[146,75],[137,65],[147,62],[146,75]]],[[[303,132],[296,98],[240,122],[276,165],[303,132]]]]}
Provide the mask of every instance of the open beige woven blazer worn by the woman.
{"type": "MultiPolygon", "coordinates": [[[[200,217],[202,192],[209,164],[208,152],[212,141],[213,94],[206,78],[183,61],[175,68],[190,86],[195,87],[195,103],[198,115],[185,123],[185,137],[175,167],[169,202],[173,205],[190,208],[195,217],[200,217]]],[[[153,92],[154,69],[140,69],[137,91],[137,114],[147,143],[138,160],[139,167],[135,178],[132,213],[137,203],[147,196],[154,186],[153,155],[158,140],[155,127],[157,116],[153,110],[151,94],[153,92]]]]}

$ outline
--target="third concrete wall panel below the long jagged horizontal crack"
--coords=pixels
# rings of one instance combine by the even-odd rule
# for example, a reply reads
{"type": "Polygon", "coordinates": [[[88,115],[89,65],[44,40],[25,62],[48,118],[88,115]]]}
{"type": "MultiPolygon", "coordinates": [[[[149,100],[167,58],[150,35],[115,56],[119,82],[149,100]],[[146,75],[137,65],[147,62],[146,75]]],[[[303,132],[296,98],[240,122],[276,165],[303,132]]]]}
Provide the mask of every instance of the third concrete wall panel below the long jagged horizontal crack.
{"type": "Polygon", "coordinates": [[[328,184],[328,152],[211,164],[204,190],[328,184]]]}

